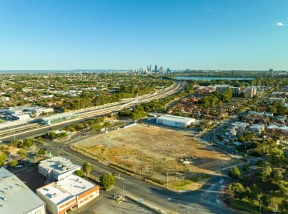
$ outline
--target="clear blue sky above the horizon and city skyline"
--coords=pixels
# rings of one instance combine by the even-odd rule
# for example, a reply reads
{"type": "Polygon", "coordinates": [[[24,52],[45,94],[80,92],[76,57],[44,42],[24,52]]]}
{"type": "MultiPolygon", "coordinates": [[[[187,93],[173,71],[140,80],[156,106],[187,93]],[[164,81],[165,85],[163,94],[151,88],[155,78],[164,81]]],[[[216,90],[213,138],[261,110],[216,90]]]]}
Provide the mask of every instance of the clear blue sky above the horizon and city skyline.
{"type": "Polygon", "coordinates": [[[0,70],[288,70],[288,0],[0,0],[0,70]]]}

